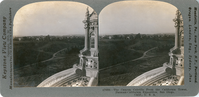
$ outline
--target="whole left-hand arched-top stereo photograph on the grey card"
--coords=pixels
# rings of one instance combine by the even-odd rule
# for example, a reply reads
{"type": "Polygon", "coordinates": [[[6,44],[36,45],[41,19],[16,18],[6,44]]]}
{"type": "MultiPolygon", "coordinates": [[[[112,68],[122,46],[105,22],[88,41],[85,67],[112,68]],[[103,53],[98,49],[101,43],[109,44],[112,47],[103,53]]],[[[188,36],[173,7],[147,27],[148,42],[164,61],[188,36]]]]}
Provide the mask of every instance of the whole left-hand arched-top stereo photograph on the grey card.
{"type": "Polygon", "coordinates": [[[68,1],[31,3],[14,17],[14,87],[98,84],[98,15],[68,1]]]}

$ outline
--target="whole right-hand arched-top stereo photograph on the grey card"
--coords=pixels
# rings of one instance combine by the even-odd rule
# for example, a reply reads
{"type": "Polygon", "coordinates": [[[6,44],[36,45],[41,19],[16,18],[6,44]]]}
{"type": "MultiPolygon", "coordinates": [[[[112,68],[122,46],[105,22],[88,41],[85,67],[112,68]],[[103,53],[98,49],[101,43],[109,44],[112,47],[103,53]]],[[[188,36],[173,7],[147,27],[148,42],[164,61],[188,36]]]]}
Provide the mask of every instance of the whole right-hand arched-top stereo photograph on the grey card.
{"type": "Polygon", "coordinates": [[[99,13],[98,86],[184,85],[181,12],[160,1],[120,1],[99,13]]]}

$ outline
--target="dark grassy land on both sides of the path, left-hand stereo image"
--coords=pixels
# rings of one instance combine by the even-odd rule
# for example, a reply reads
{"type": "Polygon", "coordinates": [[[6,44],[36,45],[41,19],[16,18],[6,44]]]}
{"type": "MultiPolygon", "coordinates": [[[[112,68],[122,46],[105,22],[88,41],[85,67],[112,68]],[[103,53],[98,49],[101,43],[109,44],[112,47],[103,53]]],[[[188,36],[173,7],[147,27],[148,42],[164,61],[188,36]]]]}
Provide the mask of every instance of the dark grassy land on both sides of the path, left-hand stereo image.
{"type": "Polygon", "coordinates": [[[14,42],[14,68],[22,67],[14,72],[15,87],[34,87],[47,77],[71,68],[79,61],[79,50],[82,49],[79,42],[14,42]],[[61,59],[53,59],[46,62],[52,55],[64,48],[68,48],[61,59]],[[49,55],[49,56],[48,56],[49,55]],[[39,61],[38,61],[39,60],[39,61]]]}

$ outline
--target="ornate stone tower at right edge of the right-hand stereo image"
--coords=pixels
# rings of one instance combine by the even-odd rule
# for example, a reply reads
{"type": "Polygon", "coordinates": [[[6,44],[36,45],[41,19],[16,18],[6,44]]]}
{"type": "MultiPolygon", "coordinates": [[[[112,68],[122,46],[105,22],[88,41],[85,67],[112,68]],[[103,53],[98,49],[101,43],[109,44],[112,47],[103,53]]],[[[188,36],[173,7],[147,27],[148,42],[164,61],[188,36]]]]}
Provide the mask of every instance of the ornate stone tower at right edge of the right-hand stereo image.
{"type": "Polygon", "coordinates": [[[176,12],[175,22],[175,46],[170,49],[169,65],[173,70],[173,74],[184,76],[184,29],[182,14],[179,10],[176,12]]]}

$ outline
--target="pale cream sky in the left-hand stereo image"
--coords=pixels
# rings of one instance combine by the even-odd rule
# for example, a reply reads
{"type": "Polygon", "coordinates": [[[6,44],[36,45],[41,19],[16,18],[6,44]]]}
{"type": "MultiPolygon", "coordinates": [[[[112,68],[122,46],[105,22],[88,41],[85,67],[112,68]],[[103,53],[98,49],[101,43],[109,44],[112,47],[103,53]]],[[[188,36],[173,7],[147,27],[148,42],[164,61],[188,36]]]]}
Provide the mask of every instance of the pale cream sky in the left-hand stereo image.
{"type": "MultiPolygon", "coordinates": [[[[25,5],[14,18],[14,36],[84,34],[86,8],[77,2],[40,2],[25,5]]],[[[90,13],[93,11],[89,7],[90,13]]]]}

